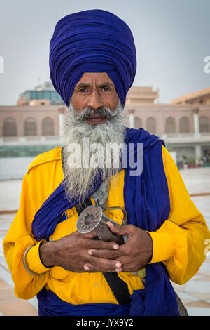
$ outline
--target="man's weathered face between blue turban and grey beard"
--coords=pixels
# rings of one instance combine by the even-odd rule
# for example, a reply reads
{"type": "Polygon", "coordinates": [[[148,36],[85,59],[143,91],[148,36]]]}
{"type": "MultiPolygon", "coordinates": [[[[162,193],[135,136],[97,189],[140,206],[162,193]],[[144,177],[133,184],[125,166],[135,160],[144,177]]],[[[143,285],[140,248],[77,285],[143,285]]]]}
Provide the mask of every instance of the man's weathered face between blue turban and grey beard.
{"type": "MultiPolygon", "coordinates": [[[[100,107],[108,107],[115,110],[119,97],[113,81],[106,72],[85,72],[76,84],[71,96],[71,104],[77,112],[85,108],[98,110],[100,107]]],[[[99,113],[92,118],[85,119],[88,124],[102,124],[107,119],[99,113]]]]}

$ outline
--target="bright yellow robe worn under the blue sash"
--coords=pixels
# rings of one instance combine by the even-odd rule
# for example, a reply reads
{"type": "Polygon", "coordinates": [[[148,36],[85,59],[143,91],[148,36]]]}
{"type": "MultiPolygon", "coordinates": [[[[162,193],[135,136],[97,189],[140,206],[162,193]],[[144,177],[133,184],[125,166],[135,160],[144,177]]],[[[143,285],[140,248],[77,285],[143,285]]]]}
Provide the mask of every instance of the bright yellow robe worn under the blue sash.
{"type": "MultiPolygon", "coordinates": [[[[155,232],[149,232],[153,239],[151,263],[163,261],[169,277],[177,284],[187,282],[204,262],[204,241],[210,237],[207,223],[191,201],[179,170],[165,147],[162,157],[169,187],[171,211],[168,220],[155,232]]],[[[3,249],[15,284],[15,295],[29,299],[41,291],[43,286],[55,292],[62,300],[72,304],[118,303],[102,273],[76,273],[61,267],[45,268],[39,258],[36,242],[31,234],[31,223],[36,211],[58,187],[64,178],[61,147],[45,152],[34,159],[22,182],[20,209],[3,240],[3,249]],[[22,256],[31,244],[36,244],[27,254],[29,269],[42,275],[30,275],[22,262],[22,256]]],[[[124,207],[124,170],[117,174],[117,185],[113,178],[109,190],[107,207],[124,207]]],[[[92,200],[93,202],[93,200],[92,200]]],[[[67,210],[68,219],[59,223],[50,239],[59,239],[76,231],[78,214],[76,208],[67,210]]],[[[120,210],[106,210],[106,215],[122,223],[120,210]]],[[[141,273],[141,272],[140,272],[141,273]]],[[[144,289],[139,275],[132,272],[118,274],[128,285],[130,293],[144,289]]]]}

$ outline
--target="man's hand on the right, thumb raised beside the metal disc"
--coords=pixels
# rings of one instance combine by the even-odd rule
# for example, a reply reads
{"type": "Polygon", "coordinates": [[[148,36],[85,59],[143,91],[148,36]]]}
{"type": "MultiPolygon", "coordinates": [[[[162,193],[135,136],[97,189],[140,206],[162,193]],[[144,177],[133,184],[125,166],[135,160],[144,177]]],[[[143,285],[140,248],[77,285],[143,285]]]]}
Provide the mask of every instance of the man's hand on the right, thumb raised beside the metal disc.
{"type": "MultiPolygon", "coordinates": [[[[108,222],[112,232],[127,235],[127,242],[117,250],[90,249],[89,253],[98,258],[117,258],[122,263],[123,272],[136,272],[147,265],[153,256],[153,241],[151,235],[134,225],[118,225],[108,222]]],[[[92,271],[92,266],[87,263],[92,271]]]]}

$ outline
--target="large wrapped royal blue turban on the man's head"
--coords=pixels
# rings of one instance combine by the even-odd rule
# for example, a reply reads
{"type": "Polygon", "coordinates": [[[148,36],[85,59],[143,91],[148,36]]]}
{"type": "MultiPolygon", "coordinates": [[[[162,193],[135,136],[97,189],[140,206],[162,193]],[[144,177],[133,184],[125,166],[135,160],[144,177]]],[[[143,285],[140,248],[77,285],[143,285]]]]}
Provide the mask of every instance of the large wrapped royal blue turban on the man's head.
{"type": "Polygon", "coordinates": [[[66,15],[57,22],[49,62],[52,85],[67,107],[85,72],[109,74],[125,105],[137,71],[130,27],[113,13],[98,9],[66,15]]]}

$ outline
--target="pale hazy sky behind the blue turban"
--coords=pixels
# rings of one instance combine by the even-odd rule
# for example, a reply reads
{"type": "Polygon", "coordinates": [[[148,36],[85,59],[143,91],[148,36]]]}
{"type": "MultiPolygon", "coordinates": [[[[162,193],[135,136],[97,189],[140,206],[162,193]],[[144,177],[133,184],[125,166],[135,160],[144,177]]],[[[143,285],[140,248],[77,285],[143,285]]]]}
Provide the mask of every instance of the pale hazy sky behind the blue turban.
{"type": "Polygon", "coordinates": [[[0,105],[50,81],[48,54],[57,21],[87,9],[125,20],[137,48],[134,86],[159,88],[160,103],[210,87],[210,0],[0,0],[0,105]],[[0,70],[1,71],[1,70],[0,70]]]}

